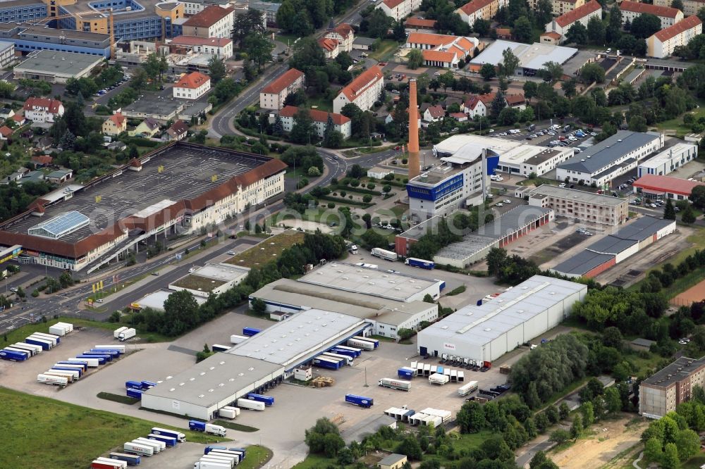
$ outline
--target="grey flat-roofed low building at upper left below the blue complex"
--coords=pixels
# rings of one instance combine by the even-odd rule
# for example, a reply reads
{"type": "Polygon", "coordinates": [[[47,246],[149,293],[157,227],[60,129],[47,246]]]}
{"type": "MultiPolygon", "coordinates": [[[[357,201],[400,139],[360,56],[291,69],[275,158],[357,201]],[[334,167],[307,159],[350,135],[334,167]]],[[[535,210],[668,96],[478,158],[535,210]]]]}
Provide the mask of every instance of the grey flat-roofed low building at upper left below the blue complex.
{"type": "Polygon", "coordinates": [[[82,78],[102,63],[102,56],[63,51],[35,51],[13,68],[16,80],[28,78],[50,83],[66,83],[69,78],[82,78]]]}

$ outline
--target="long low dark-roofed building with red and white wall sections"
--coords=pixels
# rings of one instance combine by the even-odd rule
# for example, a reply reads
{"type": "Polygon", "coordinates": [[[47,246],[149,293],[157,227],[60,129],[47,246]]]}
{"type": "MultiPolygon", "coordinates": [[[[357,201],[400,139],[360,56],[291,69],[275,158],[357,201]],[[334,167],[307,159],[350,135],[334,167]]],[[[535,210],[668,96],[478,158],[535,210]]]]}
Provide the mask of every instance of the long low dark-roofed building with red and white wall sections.
{"type": "Polygon", "coordinates": [[[599,239],[584,251],[559,263],[551,271],[568,277],[596,277],[674,231],[675,220],[651,216],[637,218],[614,235],[599,239]]]}

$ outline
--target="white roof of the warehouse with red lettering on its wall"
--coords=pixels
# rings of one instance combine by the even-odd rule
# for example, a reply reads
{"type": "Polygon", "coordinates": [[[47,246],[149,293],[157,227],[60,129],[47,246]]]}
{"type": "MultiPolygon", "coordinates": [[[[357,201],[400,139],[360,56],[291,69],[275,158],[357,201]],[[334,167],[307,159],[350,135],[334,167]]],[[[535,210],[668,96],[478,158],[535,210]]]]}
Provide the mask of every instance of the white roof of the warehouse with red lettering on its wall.
{"type": "Polygon", "coordinates": [[[584,284],[534,275],[481,306],[465,306],[419,332],[448,340],[484,346],[517,325],[526,323],[563,302],[571,294],[587,290],[584,284]]]}

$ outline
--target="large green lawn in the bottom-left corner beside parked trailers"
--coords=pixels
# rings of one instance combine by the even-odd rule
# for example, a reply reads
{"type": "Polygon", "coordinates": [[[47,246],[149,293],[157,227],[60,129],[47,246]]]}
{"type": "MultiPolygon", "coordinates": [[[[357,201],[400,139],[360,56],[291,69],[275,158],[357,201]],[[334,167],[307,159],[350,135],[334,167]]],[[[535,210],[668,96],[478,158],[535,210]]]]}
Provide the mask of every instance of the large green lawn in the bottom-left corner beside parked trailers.
{"type": "MultiPolygon", "coordinates": [[[[121,449],[124,442],[149,434],[152,427],[168,427],[11,389],[0,388],[0,401],[5,422],[0,468],[47,467],[47,451],[51,453],[53,467],[86,468],[97,456],[121,449]],[[44,451],[38,451],[37,444],[44,451]]],[[[190,442],[228,441],[183,428],[178,430],[190,442]]]]}

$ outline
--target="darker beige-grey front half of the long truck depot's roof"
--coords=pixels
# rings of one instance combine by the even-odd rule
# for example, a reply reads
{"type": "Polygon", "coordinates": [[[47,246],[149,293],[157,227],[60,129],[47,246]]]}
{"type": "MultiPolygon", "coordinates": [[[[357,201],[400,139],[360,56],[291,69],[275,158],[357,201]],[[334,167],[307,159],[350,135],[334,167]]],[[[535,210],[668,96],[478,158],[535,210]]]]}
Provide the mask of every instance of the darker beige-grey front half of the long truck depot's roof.
{"type": "MultiPolygon", "coordinates": [[[[250,340],[250,339],[247,339],[250,340]]],[[[218,353],[152,387],[145,394],[210,407],[283,368],[256,358],[218,353]]]]}

